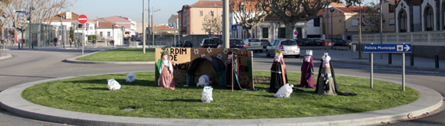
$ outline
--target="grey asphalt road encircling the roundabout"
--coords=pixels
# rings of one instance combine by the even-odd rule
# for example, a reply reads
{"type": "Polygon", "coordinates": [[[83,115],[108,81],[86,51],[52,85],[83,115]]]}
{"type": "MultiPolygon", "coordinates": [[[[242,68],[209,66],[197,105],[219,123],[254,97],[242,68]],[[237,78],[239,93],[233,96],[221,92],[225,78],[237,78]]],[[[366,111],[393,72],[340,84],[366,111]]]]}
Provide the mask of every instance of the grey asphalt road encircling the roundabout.
{"type": "MultiPolygon", "coordinates": [[[[106,47],[105,47],[106,48],[106,47]]],[[[85,50],[85,53],[95,50],[85,50]]],[[[81,50],[10,50],[14,57],[0,60],[0,91],[17,84],[57,78],[102,73],[124,73],[136,71],[153,71],[153,65],[100,65],[100,64],[72,64],[63,60],[81,55],[81,50]]],[[[298,72],[302,58],[285,57],[288,71],[298,72]]],[[[265,53],[254,53],[254,70],[266,70],[271,67],[272,57],[265,53]]],[[[336,74],[369,76],[370,67],[367,65],[332,62],[336,74]]],[[[319,61],[315,62],[318,71],[319,61]]],[[[445,94],[445,73],[406,69],[406,82],[432,88],[442,95],[445,94]]],[[[401,80],[401,69],[391,67],[374,67],[374,78],[401,80]]],[[[341,89],[340,89],[341,90],[341,89]]],[[[66,124],[44,122],[12,115],[7,111],[0,111],[1,126],[67,126],[66,124]]],[[[391,126],[443,126],[445,112],[439,112],[425,118],[400,121],[387,125],[391,126]]]]}

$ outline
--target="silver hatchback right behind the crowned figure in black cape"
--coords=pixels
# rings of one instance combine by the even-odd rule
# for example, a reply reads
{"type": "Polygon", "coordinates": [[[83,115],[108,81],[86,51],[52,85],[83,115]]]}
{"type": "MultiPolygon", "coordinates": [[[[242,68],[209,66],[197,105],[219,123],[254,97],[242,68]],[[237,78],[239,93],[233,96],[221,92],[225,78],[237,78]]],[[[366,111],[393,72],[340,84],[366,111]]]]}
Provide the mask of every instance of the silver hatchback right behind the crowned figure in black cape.
{"type": "Polygon", "coordinates": [[[275,39],[266,48],[266,56],[270,57],[275,54],[275,50],[283,51],[283,56],[300,57],[300,46],[294,39],[275,39]]]}

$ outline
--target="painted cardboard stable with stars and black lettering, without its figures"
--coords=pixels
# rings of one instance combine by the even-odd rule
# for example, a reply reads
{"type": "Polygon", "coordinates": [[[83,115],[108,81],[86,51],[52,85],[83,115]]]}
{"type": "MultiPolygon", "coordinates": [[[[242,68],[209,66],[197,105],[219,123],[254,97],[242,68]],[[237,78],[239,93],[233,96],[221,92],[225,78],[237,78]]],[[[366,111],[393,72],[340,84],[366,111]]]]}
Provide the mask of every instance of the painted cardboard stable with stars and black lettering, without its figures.
{"type": "MultiPolygon", "coordinates": [[[[173,65],[174,81],[179,85],[186,84],[186,72],[191,61],[198,57],[213,56],[218,57],[225,62],[227,59],[227,52],[235,51],[239,61],[239,83],[242,88],[254,88],[253,82],[253,66],[252,66],[252,51],[238,50],[238,49],[223,49],[223,48],[157,48],[155,49],[155,69],[158,68],[158,62],[161,59],[162,50],[169,50],[170,60],[173,65]]],[[[158,71],[156,71],[156,80],[159,78],[158,71]]],[[[201,75],[207,74],[213,82],[213,86],[218,84],[218,76],[216,75],[213,65],[210,62],[202,61],[199,68],[195,71],[194,84],[198,83],[201,75]]],[[[158,83],[158,81],[155,81],[158,83]]],[[[191,86],[191,85],[189,85],[191,86]]]]}

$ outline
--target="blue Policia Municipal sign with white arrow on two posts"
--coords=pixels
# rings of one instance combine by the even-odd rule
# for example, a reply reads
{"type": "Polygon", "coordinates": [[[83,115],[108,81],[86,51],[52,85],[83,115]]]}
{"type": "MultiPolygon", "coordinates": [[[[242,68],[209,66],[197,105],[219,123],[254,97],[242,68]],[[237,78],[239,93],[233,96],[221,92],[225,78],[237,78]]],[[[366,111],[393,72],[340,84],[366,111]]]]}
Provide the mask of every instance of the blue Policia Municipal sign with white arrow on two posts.
{"type": "Polygon", "coordinates": [[[411,44],[364,44],[364,53],[411,53],[411,44]]]}

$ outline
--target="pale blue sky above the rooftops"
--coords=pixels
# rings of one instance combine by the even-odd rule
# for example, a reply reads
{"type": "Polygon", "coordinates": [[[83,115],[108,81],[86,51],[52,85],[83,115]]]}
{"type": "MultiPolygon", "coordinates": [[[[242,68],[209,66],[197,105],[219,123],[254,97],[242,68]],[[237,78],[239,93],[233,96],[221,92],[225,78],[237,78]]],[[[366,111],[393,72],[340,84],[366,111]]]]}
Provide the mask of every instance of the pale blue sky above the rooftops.
{"type": "MultiPolygon", "coordinates": [[[[183,5],[191,5],[198,0],[150,0],[150,7],[161,9],[154,12],[154,24],[167,23],[172,14],[177,15],[183,5]]],[[[377,0],[364,0],[377,1],[377,0]]],[[[89,19],[109,16],[124,16],[135,22],[142,21],[142,0],[77,0],[69,10],[88,16],[89,19]]],[[[148,9],[148,0],[145,0],[145,9],[148,9]]],[[[66,11],[66,10],[63,10],[66,11]]],[[[150,13],[151,15],[151,13],[150,13]]],[[[146,11],[146,20],[147,20],[146,11]]],[[[151,19],[150,19],[151,20],[151,19]]]]}

